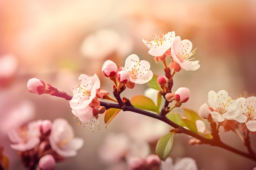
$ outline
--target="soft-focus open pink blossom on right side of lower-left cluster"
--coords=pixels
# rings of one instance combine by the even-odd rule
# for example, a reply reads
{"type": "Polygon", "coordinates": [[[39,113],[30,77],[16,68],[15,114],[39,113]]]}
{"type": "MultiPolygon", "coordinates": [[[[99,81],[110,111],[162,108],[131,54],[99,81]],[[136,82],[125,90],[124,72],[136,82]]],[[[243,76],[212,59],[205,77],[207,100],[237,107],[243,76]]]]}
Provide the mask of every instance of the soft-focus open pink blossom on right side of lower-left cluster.
{"type": "Polygon", "coordinates": [[[49,135],[52,150],[62,157],[74,157],[83,146],[83,139],[74,137],[74,130],[65,119],[55,119],[49,135]]]}

